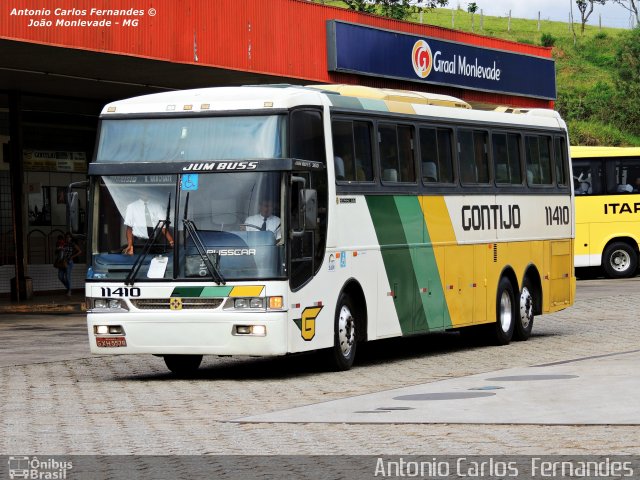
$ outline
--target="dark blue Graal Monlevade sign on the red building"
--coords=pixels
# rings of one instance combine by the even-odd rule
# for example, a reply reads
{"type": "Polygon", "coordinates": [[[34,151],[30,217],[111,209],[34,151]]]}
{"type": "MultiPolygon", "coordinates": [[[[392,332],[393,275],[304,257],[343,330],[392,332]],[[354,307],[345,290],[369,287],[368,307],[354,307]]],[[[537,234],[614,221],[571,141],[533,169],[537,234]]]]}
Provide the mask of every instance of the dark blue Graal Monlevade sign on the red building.
{"type": "Polygon", "coordinates": [[[327,22],[327,50],[329,71],[556,98],[550,58],[335,20],[327,22]]]}

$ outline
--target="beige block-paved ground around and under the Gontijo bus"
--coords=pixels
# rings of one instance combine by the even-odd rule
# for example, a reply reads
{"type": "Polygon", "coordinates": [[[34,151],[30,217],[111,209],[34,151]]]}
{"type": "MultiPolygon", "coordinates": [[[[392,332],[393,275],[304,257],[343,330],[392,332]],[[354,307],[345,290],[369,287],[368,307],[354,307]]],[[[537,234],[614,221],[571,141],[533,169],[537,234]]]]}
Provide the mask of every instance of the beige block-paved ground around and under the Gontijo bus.
{"type": "MultiPolygon", "coordinates": [[[[456,334],[374,342],[358,352],[355,368],[339,374],[324,371],[312,355],[212,357],[205,358],[198,378],[176,380],[159,358],[90,357],[81,315],[4,315],[0,452],[639,454],[640,434],[633,425],[233,421],[501,369],[638,350],[639,281],[579,282],[576,305],[536,319],[528,342],[478,347],[456,334]]],[[[609,407],[631,400],[616,398],[609,407]]]]}

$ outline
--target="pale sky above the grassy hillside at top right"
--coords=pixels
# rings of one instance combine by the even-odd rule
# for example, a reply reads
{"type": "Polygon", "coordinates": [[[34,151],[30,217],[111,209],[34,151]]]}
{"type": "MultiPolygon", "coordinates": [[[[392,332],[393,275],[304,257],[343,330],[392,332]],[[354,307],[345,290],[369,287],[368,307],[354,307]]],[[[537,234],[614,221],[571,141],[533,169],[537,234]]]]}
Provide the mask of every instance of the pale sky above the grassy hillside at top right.
{"type": "MultiPolygon", "coordinates": [[[[506,17],[511,10],[512,17],[537,19],[538,11],[543,20],[569,21],[570,2],[573,3],[573,19],[580,22],[580,12],[575,0],[475,0],[478,11],[483,10],[485,15],[506,17]]],[[[469,0],[449,0],[450,7],[460,5],[467,9],[469,0]]],[[[622,6],[613,2],[606,5],[595,5],[593,13],[589,17],[587,25],[598,25],[598,14],[602,16],[603,27],[629,28],[629,12],[622,6]]]]}

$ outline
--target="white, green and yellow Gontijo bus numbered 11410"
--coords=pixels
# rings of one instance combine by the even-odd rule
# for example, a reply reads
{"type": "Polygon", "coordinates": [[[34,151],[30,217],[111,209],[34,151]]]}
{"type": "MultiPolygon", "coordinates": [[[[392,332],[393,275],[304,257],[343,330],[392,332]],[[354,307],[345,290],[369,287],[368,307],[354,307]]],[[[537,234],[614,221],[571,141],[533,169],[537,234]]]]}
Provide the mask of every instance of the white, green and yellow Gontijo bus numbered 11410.
{"type": "Polygon", "coordinates": [[[187,373],[326,349],[344,370],[382,338],[526,340],[574,298],[567,145],[553,111],[344,85],[111,103],[89,168],[91,351],[187,373]]]}

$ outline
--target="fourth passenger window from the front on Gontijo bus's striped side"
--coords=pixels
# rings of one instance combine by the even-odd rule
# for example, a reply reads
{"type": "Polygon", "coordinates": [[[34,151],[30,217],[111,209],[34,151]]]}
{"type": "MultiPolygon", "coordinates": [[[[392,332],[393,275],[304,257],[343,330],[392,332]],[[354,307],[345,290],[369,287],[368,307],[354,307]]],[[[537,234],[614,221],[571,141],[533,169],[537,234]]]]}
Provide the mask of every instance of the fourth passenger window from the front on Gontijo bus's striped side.
{"type": "Polygon", "coordinates": [[[458,160],[462,183],[489,183],[487,132],[458,130],[458,160]]]}

